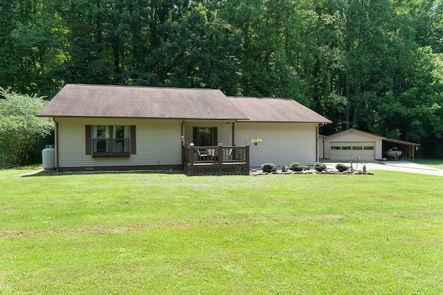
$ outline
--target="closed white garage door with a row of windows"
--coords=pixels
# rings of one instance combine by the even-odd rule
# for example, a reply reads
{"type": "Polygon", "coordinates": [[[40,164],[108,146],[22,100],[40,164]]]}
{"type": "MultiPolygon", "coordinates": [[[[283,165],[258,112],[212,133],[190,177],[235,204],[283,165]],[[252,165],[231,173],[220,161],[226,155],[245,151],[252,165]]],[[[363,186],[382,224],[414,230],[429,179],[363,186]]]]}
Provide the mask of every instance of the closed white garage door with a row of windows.
{"type": "Polygon", "coordinates": [[[375,159],[375,142],[331,142],[331,160],[354,161],[357,156],[360,160],[375,159]]]}

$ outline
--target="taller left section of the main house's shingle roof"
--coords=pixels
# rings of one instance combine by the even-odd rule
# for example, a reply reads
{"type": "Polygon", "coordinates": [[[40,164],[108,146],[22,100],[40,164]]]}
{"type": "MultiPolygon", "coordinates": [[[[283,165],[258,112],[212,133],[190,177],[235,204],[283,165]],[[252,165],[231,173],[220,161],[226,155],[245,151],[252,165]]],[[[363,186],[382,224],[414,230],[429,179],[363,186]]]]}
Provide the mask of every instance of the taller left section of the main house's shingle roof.
{"type": "Polygon", "coordinates": [[[219,90],[66,84],[40,116],[247,119],[219,90]]]}

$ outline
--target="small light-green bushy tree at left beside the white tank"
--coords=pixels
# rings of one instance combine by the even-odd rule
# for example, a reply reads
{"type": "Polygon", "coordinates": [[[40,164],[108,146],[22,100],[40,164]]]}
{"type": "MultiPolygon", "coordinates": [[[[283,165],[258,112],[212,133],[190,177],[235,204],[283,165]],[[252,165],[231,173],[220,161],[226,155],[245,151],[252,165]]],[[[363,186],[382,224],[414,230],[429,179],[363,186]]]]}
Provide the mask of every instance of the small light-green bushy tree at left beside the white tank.
{"type": "Polygon", "coordinates": [[[10,155],[10,164],[29,164],[51,134],[51,118],[37,117],[46,105],[43,97],[21,95],[0,87],[0,142],[10,155]]]}

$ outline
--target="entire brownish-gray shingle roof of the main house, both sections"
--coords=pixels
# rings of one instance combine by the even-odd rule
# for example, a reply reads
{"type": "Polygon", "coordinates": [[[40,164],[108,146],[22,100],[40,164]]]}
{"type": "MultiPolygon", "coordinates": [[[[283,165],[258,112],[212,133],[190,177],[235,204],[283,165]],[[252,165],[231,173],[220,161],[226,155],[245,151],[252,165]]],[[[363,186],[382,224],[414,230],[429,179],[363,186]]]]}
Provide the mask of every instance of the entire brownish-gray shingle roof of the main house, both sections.
{"type": "Polygon", "coordinates": [[[66,84],[39,116],[331,123],[292,99],[226,97],[214,89],[86,84],[66,84]]]}

